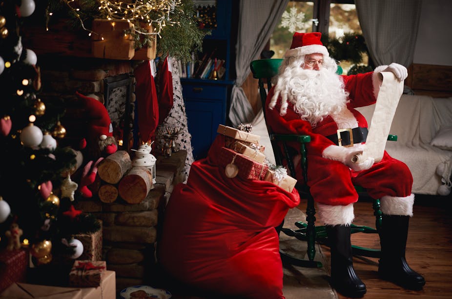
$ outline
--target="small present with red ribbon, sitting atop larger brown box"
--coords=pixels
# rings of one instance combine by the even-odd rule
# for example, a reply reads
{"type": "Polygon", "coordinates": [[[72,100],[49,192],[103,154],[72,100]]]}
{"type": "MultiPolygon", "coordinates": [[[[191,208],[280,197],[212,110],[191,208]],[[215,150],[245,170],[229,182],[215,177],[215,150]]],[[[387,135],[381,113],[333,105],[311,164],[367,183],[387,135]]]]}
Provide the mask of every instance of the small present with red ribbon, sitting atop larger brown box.
{"type": "Polygon", "coordinates": [[[105,261],[75,261],[69,272],[69,286],[100,286],[105,270],[105,261]]]}

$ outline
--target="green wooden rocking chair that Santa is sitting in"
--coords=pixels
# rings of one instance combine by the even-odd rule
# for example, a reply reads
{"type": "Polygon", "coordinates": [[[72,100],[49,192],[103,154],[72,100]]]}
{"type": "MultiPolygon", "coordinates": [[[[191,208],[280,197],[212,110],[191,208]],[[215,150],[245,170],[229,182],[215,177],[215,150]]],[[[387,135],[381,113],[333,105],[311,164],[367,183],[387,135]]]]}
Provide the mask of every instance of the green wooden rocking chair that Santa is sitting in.
{"type": "MultiPolygon", "coordinates": [[[[251,61],[250,69],[253,74],[253,78],[258,79],[259,85],[259,93],[262,101],[262,109],[265,115],[265,103],[267,99],[267,94],[272,87],[271,79],[275,75],[278,74],[278,68],[281,65],[283,59],[258,59],[251,61]],[[267,83],[267,89],[265,88],[264,83],[267,83]]],[[[271,132],[271,129],[267,125],[268,134],[270,137],[271,147],[274,152],[275,162],[277,165],[283,165],[282,162],[287,162],[287,168],[289,174],[292,177],[295,176],[295,168],[290,158],[290,151],[287,146],[287,142],[298,142],[300,144],[299,153],[301,154],[301,167],[303,170],[304,182],[297,182],[295,188],[298,190],[301,198],[307,199],[307,209],[306,209],[306,221],[307,223],[298,221],[295,223],[295,226],[298,229],[290,229],[284,227],[283,223],[278,226],[276,229],[278,233],[285,233],[290,237],[295,237],[300,241],[306,241],[308,244],[307,255],[308,260],[298,259],[296,257],[290,256],[287,253],[280,250],[281,260],[285,264],[292,264],[296,266],[302,267],[322,267],[321,262],[314,261],[315,257],[315,243],[321,243],[329,246],[327,232],[324,225],[315,226],[315,208],[314,208],[314,199],[309,192],[309,187],[307,184],[307,169],[308,169],[308,160],[307,160],[307,147],[306,145],[310,142],[309,135],[298,135],[298,134],[275,134],[271,132]],[[282,148],[282,150],[281,150],[282,148]]],[[[397,140],[396,135],[390,135],[388,140],[397,140]]],[[[364,188],[356,186],[355,187],[358,192],[365,192],[364,188]]],[[[351,224],[351,233],[378,233],[378,228],[381,226],[382,221],[382,212],[380,211],[380,200],[373,200],[373,214],[375,215],[375,228],[369,226],[357,226],[351,224]]],[[[378,258],[380,257],[380,249],[366,248],[360,247],[352,244],[352,252],[353,255],[363,256],[363,257],[372,257],[378,258]]]]}

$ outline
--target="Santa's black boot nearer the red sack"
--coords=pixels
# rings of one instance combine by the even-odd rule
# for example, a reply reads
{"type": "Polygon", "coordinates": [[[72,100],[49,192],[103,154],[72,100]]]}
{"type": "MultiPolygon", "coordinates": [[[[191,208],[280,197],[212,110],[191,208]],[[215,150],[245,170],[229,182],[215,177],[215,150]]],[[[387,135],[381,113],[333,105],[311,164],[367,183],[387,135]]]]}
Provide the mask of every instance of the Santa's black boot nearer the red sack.
{"type": "Polygon", "coordinates": [[[366,285],[353,269],[350,226],[326,225],[331,248],[331,286],[341,295],[361,298],[366,294],[366,285]]]}

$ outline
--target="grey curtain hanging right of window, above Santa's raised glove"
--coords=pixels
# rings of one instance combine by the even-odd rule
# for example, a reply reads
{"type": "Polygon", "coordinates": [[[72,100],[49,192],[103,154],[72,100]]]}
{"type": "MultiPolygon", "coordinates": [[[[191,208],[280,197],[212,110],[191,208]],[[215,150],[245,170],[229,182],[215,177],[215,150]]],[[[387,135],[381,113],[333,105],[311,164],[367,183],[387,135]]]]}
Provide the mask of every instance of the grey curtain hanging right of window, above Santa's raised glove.
{"type": "Polygon", "coordinates": [[[375,66],[413,62],[422,0],[355,0],[363,36],[375,66]]]}

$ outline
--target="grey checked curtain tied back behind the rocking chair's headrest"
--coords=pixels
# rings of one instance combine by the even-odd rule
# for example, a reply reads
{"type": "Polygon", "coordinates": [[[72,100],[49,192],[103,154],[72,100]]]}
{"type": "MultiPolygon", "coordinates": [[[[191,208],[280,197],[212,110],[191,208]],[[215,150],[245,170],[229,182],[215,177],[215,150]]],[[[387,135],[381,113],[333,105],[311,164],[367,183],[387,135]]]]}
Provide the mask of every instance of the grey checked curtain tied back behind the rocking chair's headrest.
{"type": "Polygon", "coordinates": [[[242,84],[251,72],[250,62],[259,58],[287,3],[288,0],[240,1],[235,62],[237,79],[232,88],[229,109],[229,119],[233,127],[240,123],[250,123],[255,117],[242,84]]]}

